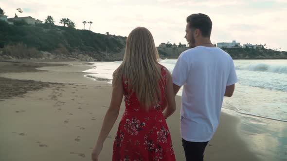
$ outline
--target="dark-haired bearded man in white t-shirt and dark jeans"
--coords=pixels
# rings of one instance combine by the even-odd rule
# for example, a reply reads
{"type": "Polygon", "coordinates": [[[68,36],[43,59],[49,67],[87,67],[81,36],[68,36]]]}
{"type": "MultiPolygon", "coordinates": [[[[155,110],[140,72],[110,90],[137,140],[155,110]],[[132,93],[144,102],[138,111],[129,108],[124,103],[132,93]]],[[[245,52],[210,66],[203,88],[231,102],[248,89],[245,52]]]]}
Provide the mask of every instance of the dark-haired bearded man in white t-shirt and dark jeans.
{"type": "Polygon", "coordinates": [[[232,97],[237,76],[231,56],[210,41],[209,16],[193,14],[186,22],[191,49],[180,54],[172,78],[175,95],[183,85],[180,132],[186,161],[203,161],[219,124],[223,97],[232,97]]]}

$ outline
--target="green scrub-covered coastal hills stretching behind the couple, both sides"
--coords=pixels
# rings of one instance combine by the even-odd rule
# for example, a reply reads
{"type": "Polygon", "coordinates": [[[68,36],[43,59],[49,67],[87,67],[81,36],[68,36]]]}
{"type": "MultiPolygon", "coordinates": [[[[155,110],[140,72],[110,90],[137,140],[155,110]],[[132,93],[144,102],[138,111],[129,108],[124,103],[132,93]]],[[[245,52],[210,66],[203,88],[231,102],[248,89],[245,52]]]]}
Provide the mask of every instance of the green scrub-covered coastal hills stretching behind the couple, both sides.
{"type": "MultiPolygon", "coordinates": [[[[0,60],[77,59],[82,61],[120,61],[126,37],[88,30],[55,26],[9,25],[0,21],[0,60]]],[[[188,48],[157,47],[161,59],[177,59],[188,48]]],[[[233,59],[287,59],[286,51],[265,48],[222,48],[233,59]]]]}

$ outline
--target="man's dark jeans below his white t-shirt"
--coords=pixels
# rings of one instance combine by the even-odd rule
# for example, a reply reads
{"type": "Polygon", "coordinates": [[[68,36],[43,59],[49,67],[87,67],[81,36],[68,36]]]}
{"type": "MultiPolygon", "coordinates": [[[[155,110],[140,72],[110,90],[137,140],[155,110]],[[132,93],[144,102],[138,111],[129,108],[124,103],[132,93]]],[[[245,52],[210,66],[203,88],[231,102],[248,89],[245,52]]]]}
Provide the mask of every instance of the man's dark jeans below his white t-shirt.
{"type": "Polygon", "coordinates": [[[186,161],[203,161],[203,153],[208,142],[188,142],[182,139],[186,161]]]}

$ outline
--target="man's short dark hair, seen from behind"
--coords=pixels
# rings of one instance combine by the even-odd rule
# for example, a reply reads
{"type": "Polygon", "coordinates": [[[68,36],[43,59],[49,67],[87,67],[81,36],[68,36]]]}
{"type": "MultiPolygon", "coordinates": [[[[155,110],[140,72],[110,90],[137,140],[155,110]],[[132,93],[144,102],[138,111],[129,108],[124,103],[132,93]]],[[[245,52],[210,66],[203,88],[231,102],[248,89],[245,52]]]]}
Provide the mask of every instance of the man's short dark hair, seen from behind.
{"type": "Polygon", "coordinates": [[[209,16],[204,14],[192,14],[186,18],[186,23],[189,22],[189,27],[199,29],[202,36],[210,38],[212,21],[209,16]]]}

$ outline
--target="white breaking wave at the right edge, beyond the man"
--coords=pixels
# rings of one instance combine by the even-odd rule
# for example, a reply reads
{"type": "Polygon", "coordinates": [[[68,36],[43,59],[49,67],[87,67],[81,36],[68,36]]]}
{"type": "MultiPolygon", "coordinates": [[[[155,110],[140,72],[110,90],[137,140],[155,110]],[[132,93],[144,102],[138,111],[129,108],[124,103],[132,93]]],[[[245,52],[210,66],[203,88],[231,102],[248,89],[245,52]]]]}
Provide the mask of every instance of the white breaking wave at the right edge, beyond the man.
{"type": "Polygon", "coordinates": [[[259,64],[235,66],[235,69],[287,74],[287,65],[272,65],[272,64],[259,63],[259,64]]]}

